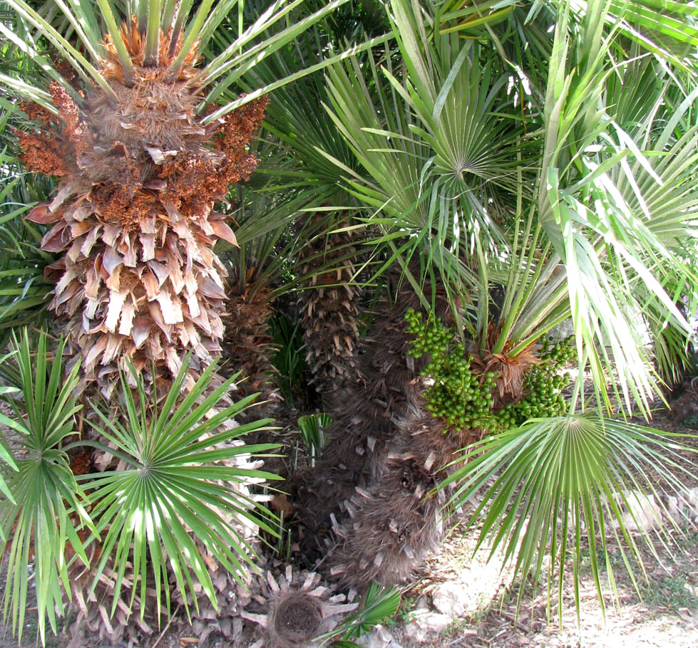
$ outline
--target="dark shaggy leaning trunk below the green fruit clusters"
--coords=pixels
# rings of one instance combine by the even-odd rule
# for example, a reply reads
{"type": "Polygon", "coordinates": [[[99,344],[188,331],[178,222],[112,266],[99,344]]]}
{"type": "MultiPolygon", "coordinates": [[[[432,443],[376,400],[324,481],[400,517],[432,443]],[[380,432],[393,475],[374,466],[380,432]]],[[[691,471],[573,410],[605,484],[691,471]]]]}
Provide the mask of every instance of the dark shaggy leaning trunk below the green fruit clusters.
{"type": "MultiPolygon", "coordinates": [[[[446,300],[437,303],[448,313],[446,300]]],[[[419,300],[406,289],[379,305],[356,355],[360,379],[344,385],[330,412],[329,444],[296,478],[305,548],[347,585],[409,577],[441,535],[441,503],[424,496],[472,440],[470,432],[444,435],[424,410],[426,360],[408,353],[409,308],[419,300]]]]}

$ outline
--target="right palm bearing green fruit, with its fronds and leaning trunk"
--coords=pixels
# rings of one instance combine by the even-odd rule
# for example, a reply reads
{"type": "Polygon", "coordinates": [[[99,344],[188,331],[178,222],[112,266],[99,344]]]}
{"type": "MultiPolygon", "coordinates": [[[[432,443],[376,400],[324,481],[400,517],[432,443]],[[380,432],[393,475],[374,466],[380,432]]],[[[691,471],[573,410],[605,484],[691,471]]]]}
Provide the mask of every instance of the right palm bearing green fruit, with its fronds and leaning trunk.
{"type": "MultiPolygon", "coordinates": [[[[486,412],[477,415],[480,406],[463,390],[446,405],[433,400],[438,389],[424,392],[446,419],[431,437],[438,458],[411,449],[426,466],[415,483],[428,489],[439,479],[430,466],[486,449],[486,459],[453,464],[443,486],[456,488],[451,504],[459,506],[504,471],[476,513],[486,515],[482,537],[506,543],[510,556],[528,528],[515,563],[524,576],[532,570],[538,578],[545,548],[555,557],[550,575],[561,575],[573,529],[594,548],[597,529],[620,518],[610,493],[657,488],[627,466],[656,464],[666,441],[615,417],[649,417],[652,398],[661,397],[638,322],[666,375],[684,360],[691,333],[676,303],[685,299],[694,310],[698,297],[698,68],[688,54],[698,43],[697,12],[670,5],[680,20],[650,0],[392,0],[399,56],[369,61],[371,83],[356,61],[327,73],[329,115],[361,164],[358,172],[342,167],[345,182],[374,209],[369,222],[383,234],[376,243],[418,294],[436,276],[453,305],[457,330],[431,335],[426,351],[433,356],[441,340],[450,357],[465,360],[470,392],[486,389],[486,412]],[[421,271],[411,273],[415,258],[421,271]],[[578,379],[562,412],[532,413],[525,401],[548,362],[543,338],[568,319],[578,379]],[[492,436],[454,453],[439,441],[462,427],[448,407],[477,436],[492,436]],[[516,487],[522,483],[528,490],[516,487]]],[[[424,291],[425,308],[430,301],[424,291]]],[[[456,365],[436,369],[444,367],[456,365]]],[[[436,374],[437,387],[454,375],[436,374]]],[[[405,438],[394,446],[398,454],[409,449],[405,438]]],[[[377,555],[377,545],[389,544],[375,530],[396,526],[396,500],[383,495],[399,484],[391,471],[403,465],[376,470],[363,503],[356,498],[349,511],[353,520],[340,525],[340,566],[350,579],[366,573],[361,560],[377,555]]],[[[678,488],[668,471],[662,478],[678,488]]],[[[424,521],[433,515],[421,498],[411,502],[424,521]]],[[[635,547],[622,520],[620,529],[635,547]]],[[[575,570],[580,551],[579,543],[571,551],[575,570]]],[[[597,567],[594,558],[600,592],[597,567]]]]}

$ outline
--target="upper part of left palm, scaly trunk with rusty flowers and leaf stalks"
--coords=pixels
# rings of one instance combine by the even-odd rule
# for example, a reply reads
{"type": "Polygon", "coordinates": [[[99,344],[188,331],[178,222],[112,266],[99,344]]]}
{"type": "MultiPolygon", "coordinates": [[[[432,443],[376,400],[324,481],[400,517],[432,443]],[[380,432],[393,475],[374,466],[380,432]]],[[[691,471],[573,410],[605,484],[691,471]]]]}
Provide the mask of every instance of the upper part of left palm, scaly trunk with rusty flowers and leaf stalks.
{"type": "Polygon", "coordinates": [[[34,122],[17,133],[24,163],[59,178],[56,196],[28,219],[51,225],[42,248],[62,254],[51,308],[67,320],[83,385],[110,394],[126,360],[138,372],[174,375],[188,350],[195,378],[220,352],[225,268],[212,247],[236,239],[213,204],[255,168],[246,147],[267,98],[256,88],[217,100],[342,1],[264,38],[299,4],[276,2],[200,67],[237,0],[195,10],[174,0],[127,2],[120,26],[108,0],[60,4],[50,19],[23,0],[7,3],[15,24],[0,30],[46,78],[43,88],[0,80],[26,98],[34,122]],[[47,47],[69,66],[59,72],[47,47]]]}

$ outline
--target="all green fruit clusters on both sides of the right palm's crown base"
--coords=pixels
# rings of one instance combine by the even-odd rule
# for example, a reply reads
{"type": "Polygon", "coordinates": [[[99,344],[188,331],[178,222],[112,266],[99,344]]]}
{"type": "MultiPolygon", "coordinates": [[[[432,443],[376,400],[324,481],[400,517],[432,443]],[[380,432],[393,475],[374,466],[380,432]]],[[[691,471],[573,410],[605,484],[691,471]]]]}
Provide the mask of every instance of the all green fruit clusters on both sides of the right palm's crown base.
{"type": "Polygon", "coordinates": [[[519,402],[493,409],[496,372],[472,372],[473,356],[468,354],[456,330],[447,328],[433,313],[426,321],[409,309],[405,315],[407,333],[414,335],[410,355],[428,354],[422,371],[433,385],[424,391],[426,409],[456,429],[488,429],[499,432],[518,427],[534,417],[552,417],[565,411],[563,390],[570,382],[561,368],[575,355],[570,338],[554,343],[541,341],[540,362],[525,373],[524,397],[519,402]]]}

